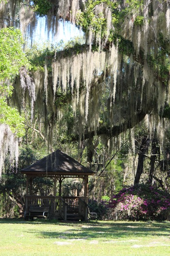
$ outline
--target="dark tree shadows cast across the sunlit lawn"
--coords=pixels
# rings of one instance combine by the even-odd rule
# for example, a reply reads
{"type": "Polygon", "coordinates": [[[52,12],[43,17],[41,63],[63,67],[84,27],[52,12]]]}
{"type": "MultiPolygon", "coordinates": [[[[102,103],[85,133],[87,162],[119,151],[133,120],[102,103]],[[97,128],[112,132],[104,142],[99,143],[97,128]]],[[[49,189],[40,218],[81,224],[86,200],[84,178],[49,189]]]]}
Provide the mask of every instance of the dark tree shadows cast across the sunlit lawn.
{"type": "Polygon", "coordinates": [[[117,222],[117,221],[90,221],[85,222],[59,222],[56,220],[24,221],[23,219],[0,219],[0,223],[14,224],[44,224],[56,225],[56,231],[29,230],[27,233],[36,233],[40,238],[60,239],[119,239],[137,238],[139,236],[168,236],[170,222],[117,222]],[[65,230],[57,231],[57,226],[65,230]],[[68,229],[67,229],[68,227],[68,229]]]}

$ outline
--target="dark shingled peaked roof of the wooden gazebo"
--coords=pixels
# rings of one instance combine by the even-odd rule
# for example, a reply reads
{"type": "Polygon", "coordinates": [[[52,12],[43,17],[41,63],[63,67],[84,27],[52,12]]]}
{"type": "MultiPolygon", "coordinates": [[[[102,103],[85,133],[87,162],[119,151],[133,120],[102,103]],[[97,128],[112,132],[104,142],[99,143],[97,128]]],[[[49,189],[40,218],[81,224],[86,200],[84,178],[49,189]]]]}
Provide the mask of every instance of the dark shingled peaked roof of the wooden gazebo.
{"type": "Polygon", "coordinates": [[[61,150],[56,150],[45,158],[38,160],[21,170],[22,174],[77,174],[93,175],[94,172],[69,157],[61,150]]]}

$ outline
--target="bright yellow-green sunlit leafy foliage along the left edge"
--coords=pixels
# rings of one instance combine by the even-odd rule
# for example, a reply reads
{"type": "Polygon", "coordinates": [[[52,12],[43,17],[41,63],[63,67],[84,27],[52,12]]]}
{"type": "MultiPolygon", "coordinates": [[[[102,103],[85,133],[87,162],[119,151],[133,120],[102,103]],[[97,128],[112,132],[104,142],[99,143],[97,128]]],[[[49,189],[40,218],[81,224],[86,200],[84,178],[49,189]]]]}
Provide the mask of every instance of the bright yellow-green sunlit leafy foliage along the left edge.
{"type": "Polygon", "coordinates": [[[23,39],[20,30],[0,30],[0,123],[9,125],[18,137],[24,135],[23,118],[17,109],[7,105],[6,98],[12,94],[11,81],[18,75],[21,66],[29,65],[22,51],[23,39]]]}

